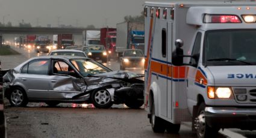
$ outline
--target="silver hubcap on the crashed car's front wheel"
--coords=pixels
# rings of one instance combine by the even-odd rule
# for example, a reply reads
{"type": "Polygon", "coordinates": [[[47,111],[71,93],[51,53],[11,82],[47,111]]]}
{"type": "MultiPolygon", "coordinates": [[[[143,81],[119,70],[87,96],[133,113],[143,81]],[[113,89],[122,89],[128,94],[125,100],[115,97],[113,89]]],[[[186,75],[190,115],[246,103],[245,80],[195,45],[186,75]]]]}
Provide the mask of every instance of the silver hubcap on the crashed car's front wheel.
{"type": "Polygon", "coordinates": [[[100,105],[107,104],[110,101],[110,94],[107,90],[100,90],[95,94],[95,101],[100,105]]]}

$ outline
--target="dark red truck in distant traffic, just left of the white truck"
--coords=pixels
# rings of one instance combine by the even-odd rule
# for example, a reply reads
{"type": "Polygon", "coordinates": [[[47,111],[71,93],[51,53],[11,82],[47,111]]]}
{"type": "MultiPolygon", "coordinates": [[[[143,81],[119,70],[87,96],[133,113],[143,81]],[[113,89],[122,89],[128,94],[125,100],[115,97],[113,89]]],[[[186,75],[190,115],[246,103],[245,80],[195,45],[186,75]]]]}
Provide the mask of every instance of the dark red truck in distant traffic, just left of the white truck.
{"type": "Polygon", "coordinates": [[[66,49],[67,46],[73,46],[72,34],[58,34],[58,49],[66,49]]]}

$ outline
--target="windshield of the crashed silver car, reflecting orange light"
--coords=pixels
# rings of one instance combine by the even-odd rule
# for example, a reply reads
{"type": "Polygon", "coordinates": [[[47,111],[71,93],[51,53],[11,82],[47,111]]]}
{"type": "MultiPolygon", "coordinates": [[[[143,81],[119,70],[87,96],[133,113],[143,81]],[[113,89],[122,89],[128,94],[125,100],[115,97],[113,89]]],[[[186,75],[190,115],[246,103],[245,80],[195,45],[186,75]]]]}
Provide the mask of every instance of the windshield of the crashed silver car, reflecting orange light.
{"type": "Polygon", "coordinates": [[[109,68],[92,59],[71,59],[71,62],[76,70],[78,70],[84,77],[111,71],[109,68]]]}

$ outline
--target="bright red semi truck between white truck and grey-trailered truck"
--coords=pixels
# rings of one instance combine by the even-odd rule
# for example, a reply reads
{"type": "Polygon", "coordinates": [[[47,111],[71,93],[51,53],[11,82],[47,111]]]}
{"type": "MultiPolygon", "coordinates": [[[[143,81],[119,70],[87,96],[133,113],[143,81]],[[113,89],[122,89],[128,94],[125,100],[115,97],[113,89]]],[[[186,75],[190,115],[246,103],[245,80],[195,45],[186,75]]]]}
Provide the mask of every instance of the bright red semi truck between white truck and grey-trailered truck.
{"type": "Polygon", "coordinates": [[[116,28],[101,28],[101,44],[108,51],[108,58],[116,58],[116,28]]]}

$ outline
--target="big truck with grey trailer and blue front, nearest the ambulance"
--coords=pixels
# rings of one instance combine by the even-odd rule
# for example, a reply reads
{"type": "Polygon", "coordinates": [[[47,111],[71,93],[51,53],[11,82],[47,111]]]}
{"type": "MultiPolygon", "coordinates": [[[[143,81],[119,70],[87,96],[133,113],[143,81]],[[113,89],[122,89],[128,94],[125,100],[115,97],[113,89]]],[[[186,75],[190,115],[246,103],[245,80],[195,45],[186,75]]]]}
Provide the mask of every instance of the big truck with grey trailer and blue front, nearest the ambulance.
{"type": "Polygon", "coordinates": [[[122,22],[116,25],[116,53],[126,49],[140,49],[144,52],[144,23],[122,22]]]}

